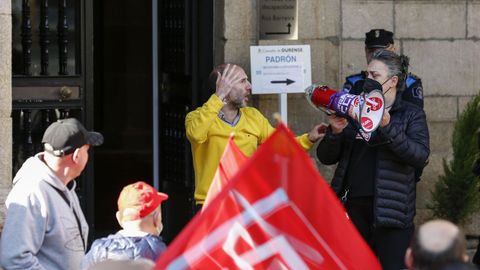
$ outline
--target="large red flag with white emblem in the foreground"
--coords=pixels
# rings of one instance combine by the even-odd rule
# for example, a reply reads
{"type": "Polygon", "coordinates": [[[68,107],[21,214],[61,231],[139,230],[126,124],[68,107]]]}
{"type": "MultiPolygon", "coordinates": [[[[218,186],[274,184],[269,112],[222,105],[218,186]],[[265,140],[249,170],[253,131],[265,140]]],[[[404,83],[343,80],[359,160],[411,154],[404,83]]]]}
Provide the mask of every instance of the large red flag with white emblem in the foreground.
{"type": "Polygon", "coordinates": [[[280,125],[155,269],[381,269],[293,135],[280,125]]]}

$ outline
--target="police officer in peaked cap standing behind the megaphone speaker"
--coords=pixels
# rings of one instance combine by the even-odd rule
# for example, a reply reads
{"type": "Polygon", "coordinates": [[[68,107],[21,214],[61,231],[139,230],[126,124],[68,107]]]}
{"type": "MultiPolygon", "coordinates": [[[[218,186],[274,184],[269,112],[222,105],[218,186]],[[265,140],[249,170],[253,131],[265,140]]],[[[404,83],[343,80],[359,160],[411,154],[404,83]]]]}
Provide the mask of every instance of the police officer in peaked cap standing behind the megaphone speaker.
{"type": "MultiPolygon", "coordinates": [[[[384,29],[372,29],[365,33],[365,56],[367,58],[367,64],[370,63],[373,53],[382,49],[395,52],[392,32],[384,29]]],[[[347,92],[351,91],[352,94],[359,94],[362,92],[365,78],[365,71],[348,76],[343,85],[343,90],[347,92]]],[[[412,73],[408,74],[402,98],[423,109],[423,88],[422,81],[419,77],[412,73]]]]}

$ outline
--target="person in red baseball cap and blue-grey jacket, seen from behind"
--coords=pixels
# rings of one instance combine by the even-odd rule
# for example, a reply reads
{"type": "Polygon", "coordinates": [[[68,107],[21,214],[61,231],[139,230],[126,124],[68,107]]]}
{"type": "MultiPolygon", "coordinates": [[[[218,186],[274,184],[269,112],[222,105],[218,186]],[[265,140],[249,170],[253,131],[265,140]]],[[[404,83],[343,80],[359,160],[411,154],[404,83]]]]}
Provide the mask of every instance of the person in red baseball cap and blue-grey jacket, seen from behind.
{"type": "Polygon", "coordinates": [[[160,237],[161,203],[166,199],[167,194],[143,181],[125,186],[118,197],[116,213],[123,229],[95,240],[82,261],[82,269],[107,259],[156,261],[166,249],[160,237]]]}

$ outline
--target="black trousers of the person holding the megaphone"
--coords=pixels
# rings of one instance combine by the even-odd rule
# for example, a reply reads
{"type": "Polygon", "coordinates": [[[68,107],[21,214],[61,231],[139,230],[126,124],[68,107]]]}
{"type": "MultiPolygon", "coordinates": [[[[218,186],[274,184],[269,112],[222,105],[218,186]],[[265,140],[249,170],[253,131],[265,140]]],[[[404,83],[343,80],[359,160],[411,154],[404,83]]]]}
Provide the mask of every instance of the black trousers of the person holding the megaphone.
{"type": "Polygon", "coordinates": [[[405,251],[414,227],[406,229],[374,227],[373,197],[348,198],[345,205],[351,221],[377,255],[384,270],[406,269],[405,251]]]}

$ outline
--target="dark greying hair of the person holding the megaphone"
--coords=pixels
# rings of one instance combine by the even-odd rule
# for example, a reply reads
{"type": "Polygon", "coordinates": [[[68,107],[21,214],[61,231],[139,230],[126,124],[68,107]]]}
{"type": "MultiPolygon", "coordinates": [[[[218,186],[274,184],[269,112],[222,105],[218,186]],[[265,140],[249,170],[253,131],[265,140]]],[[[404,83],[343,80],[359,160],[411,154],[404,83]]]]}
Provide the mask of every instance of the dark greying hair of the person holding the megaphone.
{"type": "Polygon", "coordinates": [[[372,60],[384,63],[388,68],[388,77],[397,76],[397,91],[405,90],[405,80],[408,75],[409,58],[392,51],[379,50],[372,55],[372,60]]]}

